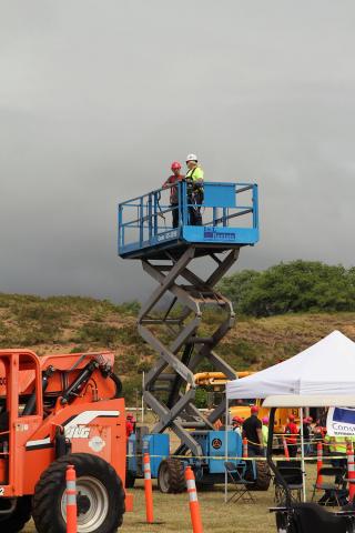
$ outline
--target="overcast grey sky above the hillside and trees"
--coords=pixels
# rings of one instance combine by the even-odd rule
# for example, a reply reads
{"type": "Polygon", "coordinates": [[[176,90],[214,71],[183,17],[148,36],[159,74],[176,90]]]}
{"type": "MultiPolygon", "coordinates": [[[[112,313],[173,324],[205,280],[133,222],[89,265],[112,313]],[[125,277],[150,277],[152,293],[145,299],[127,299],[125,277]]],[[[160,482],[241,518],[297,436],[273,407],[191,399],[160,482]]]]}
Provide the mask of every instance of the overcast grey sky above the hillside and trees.
{"type": "Polygon", "coordinates": [[[239,268],[355,264],[353,0],[0,0],[0,292],[144,298],[116,203],[260,184],[239,268]]]}

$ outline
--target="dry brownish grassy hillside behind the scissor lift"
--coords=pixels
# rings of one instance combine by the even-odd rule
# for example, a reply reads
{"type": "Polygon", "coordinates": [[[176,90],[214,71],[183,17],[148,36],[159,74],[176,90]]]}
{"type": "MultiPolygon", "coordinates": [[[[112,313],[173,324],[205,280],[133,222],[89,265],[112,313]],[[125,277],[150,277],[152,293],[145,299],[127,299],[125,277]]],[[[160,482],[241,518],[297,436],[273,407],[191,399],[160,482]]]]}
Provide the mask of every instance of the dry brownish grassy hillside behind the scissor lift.
{"type": "MultiPolygon", "coordinates": [[[[132,401],[142,371],[155,359],[136,333],[136,303],[0,294],[0,348],[26,346],[39,355],[110,349],[132,401]]],[[[207,314],[205,332],[215,324],[216,315],[207,314]]],[[[355,341],[355,313],[242,318],[217,352],[236,370],[258,370],[294,355],[335,329],[355,341]]]]}

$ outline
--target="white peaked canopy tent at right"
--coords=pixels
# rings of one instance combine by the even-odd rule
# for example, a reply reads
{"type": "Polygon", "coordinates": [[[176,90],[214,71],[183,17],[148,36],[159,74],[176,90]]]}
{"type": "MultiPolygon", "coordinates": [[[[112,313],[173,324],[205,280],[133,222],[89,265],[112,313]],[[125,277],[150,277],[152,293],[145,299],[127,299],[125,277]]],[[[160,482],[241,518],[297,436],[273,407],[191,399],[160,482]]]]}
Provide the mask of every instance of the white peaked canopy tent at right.
{"type": "MultiPolygon", "coordinates": [[[[229,382],[226,414],[230,400],[247,398],[265,399],[263,405],[270,408],[354,406],[355,342],[339,331],[333,331],[287,361],[229,382]]],[[[301,440],[304,471],[302,410],[301,440]]]]}

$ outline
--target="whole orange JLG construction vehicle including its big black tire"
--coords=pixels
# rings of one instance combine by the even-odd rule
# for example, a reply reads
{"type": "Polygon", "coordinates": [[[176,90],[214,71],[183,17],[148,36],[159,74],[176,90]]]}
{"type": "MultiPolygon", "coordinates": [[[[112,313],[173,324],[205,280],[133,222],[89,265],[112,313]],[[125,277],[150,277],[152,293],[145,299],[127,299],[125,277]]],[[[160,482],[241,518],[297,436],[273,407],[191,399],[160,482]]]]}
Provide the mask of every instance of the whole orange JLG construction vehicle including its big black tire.
{"type": "Polygon", "coordinates": [[[38,358],[0,350],[0,531],[33,516],[64,533],[65,470],[77,471],[78,533],[113,533],[125,510],[125,412],[113,354],[38,358]]]}

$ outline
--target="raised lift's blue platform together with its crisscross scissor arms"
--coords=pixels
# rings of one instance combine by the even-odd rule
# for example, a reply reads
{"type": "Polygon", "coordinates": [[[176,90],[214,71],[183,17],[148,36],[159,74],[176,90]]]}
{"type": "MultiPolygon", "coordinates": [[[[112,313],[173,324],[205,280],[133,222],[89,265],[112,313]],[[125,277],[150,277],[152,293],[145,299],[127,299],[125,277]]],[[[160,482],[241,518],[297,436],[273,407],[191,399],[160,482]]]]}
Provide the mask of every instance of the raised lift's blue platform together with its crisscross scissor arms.
{"type": "Polygon", "coordinates": [[[153,433],[171,429],[181,442],[175,455],[191,451],[202,456],[195,435],[213,430],[225,402],[204,416],[194,403],[194,372],[212,366],[227,379],[236,378],[215,352],[235,321],[232,303],[215,285],[235,263],[241,248],[258,241],[257,185],[206,182],[201,205],[193,203],[185,182],[179,183],[179,204],[170,205],[169,189],[120,203],[119,254],[140,259],[158,283],[138,319],[141,336],[159,354],[143,392],[159,418],[153,433]],[[179,210],[178,228],[168,222],[174,209],[179,210]],[[190,224],[194,209],[202,210],[202,225],[190,224]],[[205,275],[201,274],[201,258],[212,263],[205,275]],[[221,322],[206,335],[201,330],[205,330],[203,319],[211,308],[221,312],[221,322]]]}

